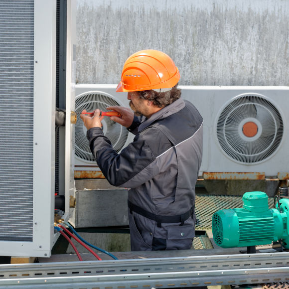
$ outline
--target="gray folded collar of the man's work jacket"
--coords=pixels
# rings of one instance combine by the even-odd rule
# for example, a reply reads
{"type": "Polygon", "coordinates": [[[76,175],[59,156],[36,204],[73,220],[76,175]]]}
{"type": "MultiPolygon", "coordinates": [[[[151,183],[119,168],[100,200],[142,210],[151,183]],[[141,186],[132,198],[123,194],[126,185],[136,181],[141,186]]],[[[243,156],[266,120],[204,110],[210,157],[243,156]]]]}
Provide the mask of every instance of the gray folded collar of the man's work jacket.
{"type": "Polygon", "coordinates": [[[144,122],[139,126],[138,132],[141,132],[156,120],[167,118],[185,107],[185,103],[182,98],[177,99],[168,106],[165,106],[158,112],[154,113],[149,119],[145,118],[144,122]]]}

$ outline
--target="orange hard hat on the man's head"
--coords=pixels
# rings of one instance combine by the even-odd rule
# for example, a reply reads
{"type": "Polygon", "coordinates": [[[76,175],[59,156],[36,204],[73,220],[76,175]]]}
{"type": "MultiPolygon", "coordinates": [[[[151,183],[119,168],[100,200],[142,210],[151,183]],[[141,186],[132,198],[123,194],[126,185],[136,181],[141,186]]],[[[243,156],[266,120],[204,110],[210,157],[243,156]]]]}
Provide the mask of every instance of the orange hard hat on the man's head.
{"type": "Polygon", "coordinates": [[[170,88],[179,79],[179,71],[167,54],[153,49],[141,50],[126,60],[116,92],[170,88]]]}

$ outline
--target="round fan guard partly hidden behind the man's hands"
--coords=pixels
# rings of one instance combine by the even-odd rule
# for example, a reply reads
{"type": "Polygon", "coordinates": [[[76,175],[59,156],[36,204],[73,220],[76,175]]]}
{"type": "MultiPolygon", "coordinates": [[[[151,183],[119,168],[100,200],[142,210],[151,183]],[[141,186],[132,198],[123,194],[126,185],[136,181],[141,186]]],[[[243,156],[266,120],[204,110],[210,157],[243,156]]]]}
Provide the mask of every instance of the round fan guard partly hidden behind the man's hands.
{"type": "MultiPolygon", "coordinates": [[[[92,112],[95,109],[107,111],[109,106],[120,106],[120,102],[112,95],[100,91],[91,91],[83,93],[75,98],[75,111],[79,116],[85,109],[92,112]]],[[[102,120],[104,134],[108,137],[114,147],[119,152],[126,144],[129,132],[120,124],[111,121],[109,117],[102,120]]],[[[77,121],[75,125],[75,155],[82,160],[95,163],[91,153],[88,140],[86,138],[87,129],[82,121],[77,121]]]]}

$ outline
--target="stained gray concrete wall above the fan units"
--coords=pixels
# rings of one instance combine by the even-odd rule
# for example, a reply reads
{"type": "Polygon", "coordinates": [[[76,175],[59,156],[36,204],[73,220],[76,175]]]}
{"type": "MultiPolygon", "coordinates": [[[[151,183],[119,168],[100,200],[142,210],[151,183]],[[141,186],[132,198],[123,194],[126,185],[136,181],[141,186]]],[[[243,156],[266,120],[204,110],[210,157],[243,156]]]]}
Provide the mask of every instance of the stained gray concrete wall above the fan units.
{"type": "Polygon", "coordinates": [[[181,85],[289,85],[289,0],[77,0],[77,82],[159,49],[181,85]]]}

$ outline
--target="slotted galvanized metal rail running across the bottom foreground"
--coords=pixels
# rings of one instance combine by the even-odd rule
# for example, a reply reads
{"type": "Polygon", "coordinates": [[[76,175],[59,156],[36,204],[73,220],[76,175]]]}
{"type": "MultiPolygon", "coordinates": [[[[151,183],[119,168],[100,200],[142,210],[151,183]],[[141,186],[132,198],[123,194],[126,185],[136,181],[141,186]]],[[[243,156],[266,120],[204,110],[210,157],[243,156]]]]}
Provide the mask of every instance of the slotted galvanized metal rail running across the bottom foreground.
{"type": "Polygon", "coordinates": [[[0,288],[145,289],[289,282],[289,253],[0,265],[0,288]]]}

